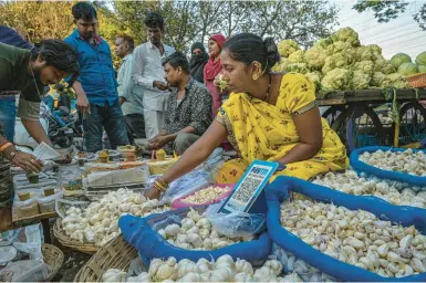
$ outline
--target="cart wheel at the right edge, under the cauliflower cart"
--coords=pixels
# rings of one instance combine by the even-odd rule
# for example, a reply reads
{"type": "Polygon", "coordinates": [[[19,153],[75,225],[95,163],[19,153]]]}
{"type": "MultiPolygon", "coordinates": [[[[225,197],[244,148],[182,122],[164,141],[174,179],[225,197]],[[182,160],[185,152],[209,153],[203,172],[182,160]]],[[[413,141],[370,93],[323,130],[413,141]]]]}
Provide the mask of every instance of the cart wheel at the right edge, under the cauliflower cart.
{"type": "MultiPolygon", "coordinates": [[[[426,108],[418,102],[409,102],[399,112],[399,145],[417,143],[426,138],[426,108]]],[[[392,130],[395,135],[395,123],[392,130]]]]}

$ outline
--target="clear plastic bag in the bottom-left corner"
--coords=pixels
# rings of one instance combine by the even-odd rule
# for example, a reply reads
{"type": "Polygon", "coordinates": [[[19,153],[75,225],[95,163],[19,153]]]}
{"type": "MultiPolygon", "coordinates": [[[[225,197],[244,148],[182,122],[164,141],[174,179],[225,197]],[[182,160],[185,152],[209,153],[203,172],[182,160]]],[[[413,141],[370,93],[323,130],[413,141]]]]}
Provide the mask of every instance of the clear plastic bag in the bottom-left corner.
{"type": "Polygon", "coordinates": [[[52,268],[42,261],[17,261],[0,270],[0,282],[43,282],[52,268]]]}

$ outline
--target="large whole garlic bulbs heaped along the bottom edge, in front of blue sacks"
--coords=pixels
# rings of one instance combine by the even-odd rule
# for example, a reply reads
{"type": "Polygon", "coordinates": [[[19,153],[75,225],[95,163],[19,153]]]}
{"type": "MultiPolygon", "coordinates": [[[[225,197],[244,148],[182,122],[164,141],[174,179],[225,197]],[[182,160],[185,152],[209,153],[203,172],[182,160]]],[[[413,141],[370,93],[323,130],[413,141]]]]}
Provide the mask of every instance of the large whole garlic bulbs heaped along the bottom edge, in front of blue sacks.
{"type": "MultiPolygon", "coordinates": [[[[120,274],[120,271],[115,272],[120,274]]],[[[206,259],[197,262],[185,259],[177,262],[175,258],[168,258],[166,261],[154,259],[148,272],[128,277],[126,282],[302,282],[295,273],[280,277],[281,273],[282,264],[274,259],[267,260],[259,269],[253,269],[250,262],[240,259],[233,261],[228,254],[220,256],[216,262],[206,259]]]]}

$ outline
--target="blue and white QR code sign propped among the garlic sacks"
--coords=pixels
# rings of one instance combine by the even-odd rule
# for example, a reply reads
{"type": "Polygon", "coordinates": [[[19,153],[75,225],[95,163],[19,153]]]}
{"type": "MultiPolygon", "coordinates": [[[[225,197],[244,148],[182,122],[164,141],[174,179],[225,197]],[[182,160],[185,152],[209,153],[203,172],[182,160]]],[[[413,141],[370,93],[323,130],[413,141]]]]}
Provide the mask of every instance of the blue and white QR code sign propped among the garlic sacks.
{"type": "Polygon", "coordinates": [[[266,213],[267,202],[263,188],[278,167],[278,163],[254,160],[218,212],[266,213]]]}

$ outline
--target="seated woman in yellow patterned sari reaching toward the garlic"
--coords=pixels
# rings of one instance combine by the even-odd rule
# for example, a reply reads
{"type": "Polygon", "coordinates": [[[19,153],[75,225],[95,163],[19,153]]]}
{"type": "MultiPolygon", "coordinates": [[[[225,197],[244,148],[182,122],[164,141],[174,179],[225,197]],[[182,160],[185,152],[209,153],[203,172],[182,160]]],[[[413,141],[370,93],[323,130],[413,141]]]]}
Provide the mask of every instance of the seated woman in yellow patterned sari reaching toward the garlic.
{"type": "Polygon", "coordinates": [[[158,198],[168,184],[208,158],[228,137],[239,158],[224,165],[217,180],[236,182],[254,159],[285,165],[279,175],[310,179],[349,166],[345,147],[321,118],[315,87],[304,75],[271,73],[277,45],[251,33],[229,39],[220,55],[232,92],[209,129],[149,190],[158,198]]]}

